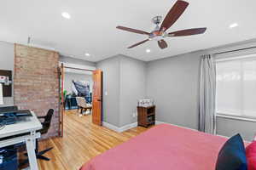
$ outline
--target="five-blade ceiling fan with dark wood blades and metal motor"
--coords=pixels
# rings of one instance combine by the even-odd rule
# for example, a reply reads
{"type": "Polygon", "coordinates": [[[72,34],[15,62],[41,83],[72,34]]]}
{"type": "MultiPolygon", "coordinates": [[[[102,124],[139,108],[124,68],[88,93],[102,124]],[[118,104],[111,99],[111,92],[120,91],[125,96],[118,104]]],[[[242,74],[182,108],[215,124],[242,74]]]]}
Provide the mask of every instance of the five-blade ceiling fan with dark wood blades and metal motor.
{"type": "Polygon", "coordinates": [[[203,34],[207,28],[192,28],[187,30],[181,30],[181,31],[172,31],[170,33],[167,33],[166,31],[177,21],[177,19],[183,14],[185,9],[189,6],[189,3],[181,0],[177,0],[177,2],[174,4],[174,6],[171,8],[169,13],[166,15],[165,20],[163,20],[161,26],[160,23],[162,21],[161,16],[155,16],[152,19],[152,22],[156,25],[154,31],[147,32],[147,31],[141,31],[133,28],[128,28],[125,26],[117,26],[117,29],[123,30],[123,31],[131,31],[137,34],[143,34],[148,36],[148,39],[138,42],[134,45],[132,45],[129,48],[137,47],[138,45],[143,44],[144,42],[148,42],[150,40],[155,40],[158,42],[158,45],[160,48],[164,49],[167,48],[168,45],[164,38],[166,37],[183,37],[183,36],[192,36],[196,34],[203,34]]]}

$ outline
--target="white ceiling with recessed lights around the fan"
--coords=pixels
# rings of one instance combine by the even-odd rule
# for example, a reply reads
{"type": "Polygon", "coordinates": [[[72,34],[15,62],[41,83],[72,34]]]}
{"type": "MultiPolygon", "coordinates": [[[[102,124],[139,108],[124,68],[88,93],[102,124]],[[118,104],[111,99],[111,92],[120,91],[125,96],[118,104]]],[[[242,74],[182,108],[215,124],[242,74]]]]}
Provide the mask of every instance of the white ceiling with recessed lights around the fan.
{"type": "Polygon", "coordinates": [[[39,45],[61,54],[98,61],[125,54],[145,61],[256,37],[255,0],[188,0],[189,8],[168,31],[206,26],[207,32],[193,37],[170,37],[164,50],[157,42],[137,48],[128,46],[146,36],[119,31],[128,26],[152,31],[151,18],[165,16],[175,0],[1,0],[0,41],[26,43],[32,37],[39,45]],[[67,12],[71,19],[62,18],[67,12]],[[239,26],[230,29],[232,23],[239,26]],[[151,53],[145,53],[147,48],[151,53]],[[84,53],[91,55],[84,56],[84,53]]]}

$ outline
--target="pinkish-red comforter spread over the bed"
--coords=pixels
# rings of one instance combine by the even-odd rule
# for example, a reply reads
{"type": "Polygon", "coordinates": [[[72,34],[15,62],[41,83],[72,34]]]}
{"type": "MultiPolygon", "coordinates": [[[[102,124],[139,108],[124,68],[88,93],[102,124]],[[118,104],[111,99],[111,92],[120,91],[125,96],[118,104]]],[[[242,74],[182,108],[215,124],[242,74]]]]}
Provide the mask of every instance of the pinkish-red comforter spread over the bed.
{"type": "Polygon", "coordinates": [[[214,170],[226,140],[161,124],[96,156],[80,170],[214,170]]]}

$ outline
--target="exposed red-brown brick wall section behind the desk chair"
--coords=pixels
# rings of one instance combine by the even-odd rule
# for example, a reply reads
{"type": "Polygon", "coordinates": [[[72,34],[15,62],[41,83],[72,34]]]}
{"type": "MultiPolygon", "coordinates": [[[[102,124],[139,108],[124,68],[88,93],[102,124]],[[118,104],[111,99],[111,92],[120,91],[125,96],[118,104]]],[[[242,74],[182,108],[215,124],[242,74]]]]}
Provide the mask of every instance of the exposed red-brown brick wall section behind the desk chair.
{"type": "Polygon", "coordinates": [[[41,48],[15,44],[15,105],[44,116],[55,114],[44,138],[58,135],[59,128],[59,54],[41,48]]]}

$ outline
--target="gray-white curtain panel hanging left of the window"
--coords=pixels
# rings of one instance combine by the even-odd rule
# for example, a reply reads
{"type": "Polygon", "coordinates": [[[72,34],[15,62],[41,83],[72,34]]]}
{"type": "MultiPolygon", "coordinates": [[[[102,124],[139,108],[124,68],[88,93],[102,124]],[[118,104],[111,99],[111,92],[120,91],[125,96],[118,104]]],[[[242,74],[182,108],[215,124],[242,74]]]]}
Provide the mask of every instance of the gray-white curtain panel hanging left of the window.
{"type": "Polygon", "coordinates": [[[216,65],[211,54],[201,56],[199,130],[216,133],[216,65]]]}

